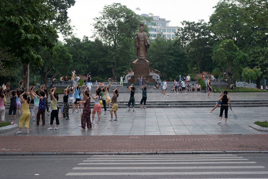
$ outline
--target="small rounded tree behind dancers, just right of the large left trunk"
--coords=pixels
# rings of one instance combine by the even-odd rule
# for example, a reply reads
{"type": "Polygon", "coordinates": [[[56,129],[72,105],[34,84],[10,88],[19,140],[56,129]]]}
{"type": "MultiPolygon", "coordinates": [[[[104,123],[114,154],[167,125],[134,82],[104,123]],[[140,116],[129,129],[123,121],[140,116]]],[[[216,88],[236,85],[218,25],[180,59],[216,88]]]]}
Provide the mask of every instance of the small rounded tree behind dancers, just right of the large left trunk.
{"type": "MultiPolygon", "coordinates": [[[[70,69],[72,65],[72,55],[68,52],[68,49],[62,45],[56,45],[54,47],[54,54],[49,53],[49,49],[43,48],[40,51],[40,55],[44,60],[44,63],[40,66],[39,72],[42,75],[44,83],[47,84],[47,76],[53,74],[51,79],[58,75],[61,71],[70,69]]],[[[54,82],[50,87],[52,87],[54,82]]]]}

